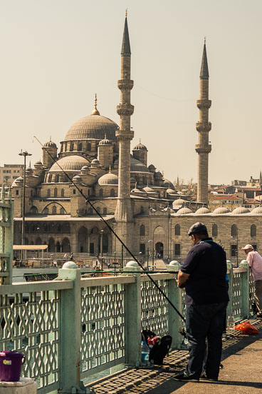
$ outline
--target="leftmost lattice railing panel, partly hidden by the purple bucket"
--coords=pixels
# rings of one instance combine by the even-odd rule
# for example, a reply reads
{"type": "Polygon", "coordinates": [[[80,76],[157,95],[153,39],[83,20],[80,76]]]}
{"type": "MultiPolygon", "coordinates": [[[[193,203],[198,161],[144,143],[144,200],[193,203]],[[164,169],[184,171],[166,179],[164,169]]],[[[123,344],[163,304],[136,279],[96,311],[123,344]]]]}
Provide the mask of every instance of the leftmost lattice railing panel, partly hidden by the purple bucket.
{"type": "Polygon", "coordinates": [[[23,375],[37,380],[39,393],[59,387],[59,302],[59,291],[0,295],[1,350],[26,356],[23,375]]]}

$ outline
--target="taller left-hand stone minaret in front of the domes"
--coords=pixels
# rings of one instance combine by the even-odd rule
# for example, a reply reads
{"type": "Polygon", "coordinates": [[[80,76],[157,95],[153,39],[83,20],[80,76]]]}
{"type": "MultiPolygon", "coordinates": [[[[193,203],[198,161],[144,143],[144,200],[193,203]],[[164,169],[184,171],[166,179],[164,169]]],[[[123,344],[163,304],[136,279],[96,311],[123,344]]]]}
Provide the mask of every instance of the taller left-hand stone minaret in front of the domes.
{"type": "MultiPolygon", "coordinates": [[[[115,133],[119,141],[118,198],[115,219],[123,224],[131,223],[133,220],[130,200],[130,141],[134,137],[134,132],[130,129],[130,116],[134,111],[134,106],[130,103],[130,91],[134,82],[130,79],[130,70],[131,50],[126,13],[121,49],[121,79],[117,81],[117,86],[121,91],[120,105],[117,106],[120,128],[115,133]]],[[[128,232],[128,226],[117,224],[117,233],[122,233],[123,241],[128,240],[128,232]]]]}

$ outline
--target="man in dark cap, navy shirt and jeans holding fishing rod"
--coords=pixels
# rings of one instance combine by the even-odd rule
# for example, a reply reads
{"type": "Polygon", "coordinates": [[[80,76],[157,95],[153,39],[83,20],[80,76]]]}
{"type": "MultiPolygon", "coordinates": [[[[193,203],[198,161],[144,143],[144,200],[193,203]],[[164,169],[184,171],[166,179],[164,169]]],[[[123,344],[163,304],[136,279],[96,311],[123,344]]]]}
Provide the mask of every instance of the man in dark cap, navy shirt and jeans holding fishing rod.
{"type": "Polygon", "coordinates": [[[218,380],[222,352],[224,317],[229,302],[226,285],[226,253],[209,238],[203,223],[189,228],[194,246],[177,276],[177,286],[186,291],[186,330],[189,361],[174,380],[197,382],[206,350],[206,378],[218,380]]]}

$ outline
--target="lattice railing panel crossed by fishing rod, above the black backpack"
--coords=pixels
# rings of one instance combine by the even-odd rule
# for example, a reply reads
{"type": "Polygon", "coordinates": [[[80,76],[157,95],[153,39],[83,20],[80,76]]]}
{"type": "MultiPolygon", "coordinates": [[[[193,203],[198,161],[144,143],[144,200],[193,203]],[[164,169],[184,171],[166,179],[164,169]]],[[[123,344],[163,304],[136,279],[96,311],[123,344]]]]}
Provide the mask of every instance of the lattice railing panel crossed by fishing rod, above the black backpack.
{"type": "MultiPolygon", "coordinates": [[[[167,282],[157,281],[166,296],[167,282]]],[[[142,330],[150,329],[159,336],[169,333],[167,300],[150,281],[143,281],[141,284],[141,308],[142,330]]]]}

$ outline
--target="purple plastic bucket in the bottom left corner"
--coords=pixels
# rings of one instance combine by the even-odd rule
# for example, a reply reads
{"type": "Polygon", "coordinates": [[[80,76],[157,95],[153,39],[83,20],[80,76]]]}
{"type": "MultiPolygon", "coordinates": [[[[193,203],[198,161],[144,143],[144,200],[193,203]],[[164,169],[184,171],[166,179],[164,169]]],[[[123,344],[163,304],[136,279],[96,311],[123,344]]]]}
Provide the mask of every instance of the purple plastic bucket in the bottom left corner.
{"type": "Polygon", "coordinates": [[[1,382],[18,382],[20,380],[21,367],[25,362],[23,353],[16,351],[0,352],[0,380],[1,382]],[[23,360],[22,360],[23,359],[23,360]]]}

